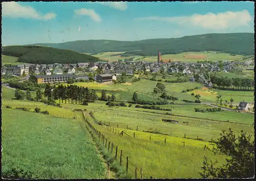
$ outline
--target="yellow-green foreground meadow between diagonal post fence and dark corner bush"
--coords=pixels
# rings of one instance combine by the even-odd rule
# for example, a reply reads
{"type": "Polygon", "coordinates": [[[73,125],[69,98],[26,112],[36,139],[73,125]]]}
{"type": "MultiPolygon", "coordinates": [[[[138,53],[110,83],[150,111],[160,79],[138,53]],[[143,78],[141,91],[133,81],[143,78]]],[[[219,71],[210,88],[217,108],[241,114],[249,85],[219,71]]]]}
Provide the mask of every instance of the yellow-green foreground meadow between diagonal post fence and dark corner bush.
{"type": "MultiPolygon", "coordinates": [[[[93,120],[91,123],[93,123],[93,120]]],[[[218,160],[219,164],[224,163],[223,156],[214,156],[208,150],[204,150],[204,145],[208,142],[202,142],[191,139],[164,136],[159,134],[150,134],[141,131],[131,131],[125,128],[116,128],[115,131],[123,131],[123,136],[108,131],[106,126],[93,124],[105,138],[118,146],[122,150],[122,158],[125,166],[125,158],[129,157],[129,174],[134,176],[135,166],[143,168],[142,178],[197,178],[200,177],[198,171],[202,166],[203,157],[209,160],[218,160]],[[117,130],[116,130],[117,129],[117,130]],[[135,133],[135,138],[133,134],[135,133]],[[127,136],[127,135],[130,136],[127,136]],[[151,141],[150,141],[151,136],[151,141]],[[166,139],[166,144],[164,143],[166,139]],[[185,146],[183,147],[183,142],[185,146]]],[[[112,123],[111,123],[112,125],[112,123]]],[[[120,158],[120,153],[117,159],[120,158]]],[[[113,154],[114,156],[114,154],[113,154]]]]}

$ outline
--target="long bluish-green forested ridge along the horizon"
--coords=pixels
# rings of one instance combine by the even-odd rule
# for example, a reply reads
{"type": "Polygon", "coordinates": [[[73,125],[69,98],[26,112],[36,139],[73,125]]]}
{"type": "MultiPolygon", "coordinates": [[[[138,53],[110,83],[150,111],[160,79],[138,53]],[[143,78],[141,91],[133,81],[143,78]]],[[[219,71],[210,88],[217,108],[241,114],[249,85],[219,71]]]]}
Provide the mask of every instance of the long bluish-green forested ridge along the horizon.
{"type": "Polygon", "coordinates": [[[222,51],[240,55],[254,54],[253,33],[226,33],[185,36],[182,38],[148,39],[141,41],[79,40],[65,43],[37,43],[33,45],[71,49],[78,53],[98,54],[106,51],[128,51],[126,54],[156,56],[184,51],[222,51]],[[136,51],[132,51],[136,50],[136,51]]]}

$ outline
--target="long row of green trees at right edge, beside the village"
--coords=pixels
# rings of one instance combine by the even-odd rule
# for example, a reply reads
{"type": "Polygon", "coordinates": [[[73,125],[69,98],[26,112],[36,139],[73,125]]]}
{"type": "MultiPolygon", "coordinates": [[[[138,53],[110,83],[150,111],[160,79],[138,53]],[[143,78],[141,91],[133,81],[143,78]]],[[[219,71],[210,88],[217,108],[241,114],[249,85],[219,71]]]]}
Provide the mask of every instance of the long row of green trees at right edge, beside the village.
{"type": "Polygon", "coordinates": [[[226,76],[217,76],[216,74],[210,75],[212,84],[221,88],[236,88],[236,89],[254,89],[254,79],[249,78],[229,78],[226,76]]]}

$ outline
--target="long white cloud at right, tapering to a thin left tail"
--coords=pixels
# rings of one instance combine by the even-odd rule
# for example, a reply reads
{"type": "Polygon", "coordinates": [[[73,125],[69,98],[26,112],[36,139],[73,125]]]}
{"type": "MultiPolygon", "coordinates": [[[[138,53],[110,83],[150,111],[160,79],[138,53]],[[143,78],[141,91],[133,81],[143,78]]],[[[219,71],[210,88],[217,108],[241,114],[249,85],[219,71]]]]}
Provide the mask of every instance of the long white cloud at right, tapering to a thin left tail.
{"type": "Polygon", "coordinates": [[[232,27],[249,26],[253,18],[247,10],[224,13],[207,13],[204,15],[194,14],[191,16],[176,17],[142,17],[135,20],[160,20],[165,22],[176,22],[181,25],[193,25],[205,29],[226,29],[232,27]]]}

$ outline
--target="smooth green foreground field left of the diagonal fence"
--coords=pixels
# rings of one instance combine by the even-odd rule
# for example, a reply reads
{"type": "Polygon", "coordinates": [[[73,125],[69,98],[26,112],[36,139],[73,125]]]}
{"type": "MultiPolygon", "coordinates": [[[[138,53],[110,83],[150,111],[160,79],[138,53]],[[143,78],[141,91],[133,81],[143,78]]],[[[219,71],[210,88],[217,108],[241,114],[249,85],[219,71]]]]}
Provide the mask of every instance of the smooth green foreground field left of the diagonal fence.
{"type": "Polygon", "coordinates": [[[81,121],[6,108],[2,113],[3,174],[19,168],[39,179],[105,178],[81,121]]]}

